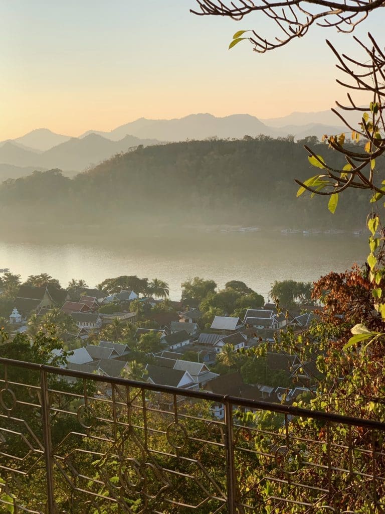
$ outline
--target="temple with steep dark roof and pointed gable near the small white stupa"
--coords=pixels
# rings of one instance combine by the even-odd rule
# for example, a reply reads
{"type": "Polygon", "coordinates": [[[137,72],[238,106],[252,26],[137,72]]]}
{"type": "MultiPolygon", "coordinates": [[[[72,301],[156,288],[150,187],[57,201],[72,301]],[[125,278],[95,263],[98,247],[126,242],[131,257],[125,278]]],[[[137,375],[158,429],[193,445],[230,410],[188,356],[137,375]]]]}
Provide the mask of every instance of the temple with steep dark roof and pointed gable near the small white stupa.
{"type": "Polygon", "coordinates": [[[57,289],[50,285],[46,287],[22,285],[18,290],[14,306],[22,316],[26,316],[32,310],[37,310],[40,307],[53,308],[61,305],[67,294],[66,290],[57,289]]]}

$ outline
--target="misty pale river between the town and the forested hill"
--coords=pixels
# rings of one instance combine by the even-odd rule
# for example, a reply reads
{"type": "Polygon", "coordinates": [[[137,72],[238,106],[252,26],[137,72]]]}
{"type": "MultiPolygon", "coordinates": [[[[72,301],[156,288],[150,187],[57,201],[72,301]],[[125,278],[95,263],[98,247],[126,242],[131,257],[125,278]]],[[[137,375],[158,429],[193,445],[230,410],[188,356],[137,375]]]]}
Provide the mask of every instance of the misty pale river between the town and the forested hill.
{"type": "Polygon", "coordinates": [[[158,278],[169,284],[172,300],[180,299],[181,282],[188,278],[214,279],[220,288],[242,280],[267,300],[275,280],[315,281],[329,271],[361,265],[369,253],[367,237],[352,234],[199,233],[187,228],[148,236],[101,232],[98,237],[87,231],[76,237],[2,233],[0,268],[10,268],[22,280],[46,272],[64,287],[71,279],[93,287],[119,275],[158,278]]]}

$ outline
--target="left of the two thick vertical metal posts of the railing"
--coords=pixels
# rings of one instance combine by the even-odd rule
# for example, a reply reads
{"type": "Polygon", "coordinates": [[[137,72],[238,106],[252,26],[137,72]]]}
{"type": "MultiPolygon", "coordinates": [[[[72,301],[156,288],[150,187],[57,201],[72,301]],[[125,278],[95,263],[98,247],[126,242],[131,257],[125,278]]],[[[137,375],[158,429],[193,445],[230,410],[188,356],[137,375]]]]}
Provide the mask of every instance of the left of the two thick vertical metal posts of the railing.
{"type": "Polygon", "coordinates": [[[47,498],[48,498],[48,514],[55,514],[55,500],[53,493],[53,456],[52,456],[52,440],[51,440],[51,424],[49,420],[49,395],[47,386],[46,372],[40,370],[40,387],[42,394],[42,421],[43,421],[43,439],[44,439],[44,457],[46,462],[47,473],[47,498]]]}

